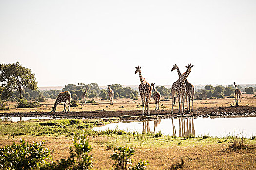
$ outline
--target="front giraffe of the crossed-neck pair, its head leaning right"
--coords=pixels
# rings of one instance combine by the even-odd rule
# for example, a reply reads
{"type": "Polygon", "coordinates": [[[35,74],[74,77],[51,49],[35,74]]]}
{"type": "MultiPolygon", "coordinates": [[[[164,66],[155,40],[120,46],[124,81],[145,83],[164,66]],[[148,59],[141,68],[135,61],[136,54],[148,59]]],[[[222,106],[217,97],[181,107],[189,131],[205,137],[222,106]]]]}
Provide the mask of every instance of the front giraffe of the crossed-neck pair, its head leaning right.
{"type": "Polygon", "coordinates": [[[188,75],[191,72],[191,68],[193,67],[193,65],[191,66],[191,64],[188,64],[188,66],[186,66],[187,71],[184,72],[179,79],[173,83],[172,88],[171,88],[171,93],[172,93],[172,98],[173,98],[173,103],[172,103],[172,113],[173,113],[173,106],[175,103],[175,93],[178,93],[178,113],[183,114],[183,102],[184,102],[184,95],[185,95],[185,91],[186,91],[186,83],[185,80],[187,79],[188,75]],[[181,105],[180,105],[181,104],[181,105]]]}

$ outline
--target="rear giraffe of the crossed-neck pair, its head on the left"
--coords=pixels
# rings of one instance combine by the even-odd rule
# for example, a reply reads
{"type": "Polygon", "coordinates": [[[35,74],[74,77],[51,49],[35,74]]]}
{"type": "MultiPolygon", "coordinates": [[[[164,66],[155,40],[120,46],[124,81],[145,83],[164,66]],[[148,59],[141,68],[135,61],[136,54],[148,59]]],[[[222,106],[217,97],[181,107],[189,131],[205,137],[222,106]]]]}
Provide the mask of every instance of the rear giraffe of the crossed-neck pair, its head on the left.
{"type": "MultiPolygon", "coordinates": [[[[179,71],[178,66],[175,64],[173,65],[172,71],[173,70],[177,70],[178,72],[178,76],[181,76],[181,72],[179,71]]],[[[193,99],[194,99],[194,94],[195,94],[195,88],[194,85],[192,85],[191,83],[188,82],[188,80],[185,80],[186,83],[186,102],[187,102],[187,111],[190,112],[190,99],[191,99],[191,112],[193,112],[193,99]],[[188,107],[188,98],[189,98],[189,107],[188,107]]],[[[185,105],[185,104],[184,104],[185,105]]],[[[184,105],[183,105],[183,110],[184,110],[184,105]]]]}

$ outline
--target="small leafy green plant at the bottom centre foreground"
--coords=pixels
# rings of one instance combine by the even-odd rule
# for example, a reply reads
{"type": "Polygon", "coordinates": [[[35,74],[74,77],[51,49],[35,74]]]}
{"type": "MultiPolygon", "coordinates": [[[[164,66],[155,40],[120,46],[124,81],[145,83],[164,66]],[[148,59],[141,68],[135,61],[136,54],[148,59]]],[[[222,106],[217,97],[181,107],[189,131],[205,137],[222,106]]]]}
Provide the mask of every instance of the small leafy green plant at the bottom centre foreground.
{"type": "Polygon", "coordinates": [[[115,160],[113,164],[114,170],[146,170],[148,161],[139,161],[138,164],[132,166],[133,159],[130,157],[134,155],[134,149],[130,147],[116,147],[113,154],[110,156],[115,160]]]}

